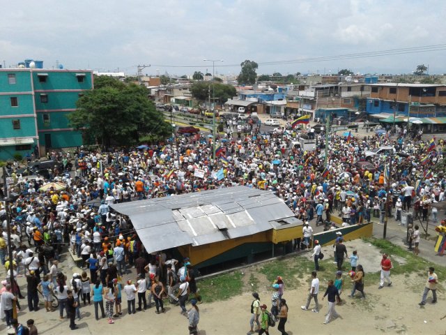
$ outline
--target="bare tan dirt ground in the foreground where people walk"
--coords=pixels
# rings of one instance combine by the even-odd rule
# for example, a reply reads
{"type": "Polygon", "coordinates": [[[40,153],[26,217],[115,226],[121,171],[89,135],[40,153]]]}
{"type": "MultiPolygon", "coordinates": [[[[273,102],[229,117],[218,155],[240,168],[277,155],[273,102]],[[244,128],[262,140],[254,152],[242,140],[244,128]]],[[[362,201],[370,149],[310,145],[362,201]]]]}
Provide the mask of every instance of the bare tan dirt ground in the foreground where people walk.
{"type": "MultiPolygon", "coordinates": [[[[285,287],[284,298],[289,305],[289,320],[286,323],[286,330],[290,335],[297,334],[446,334],[446,319],[440,321],[440,317],[446,314],[446,299],[443,290],[438,290],[438,303],[431,304],[431,295],[427,299],[425,306],[418,306],[421,301],[422,292],[426,278],[424,274],[410,274],[392,276],[392,287],[385,287],[378,290],[378,282],[367,281],[367,273],[378,271],[380,262],[380,251],[361,240],[346,243],[348,253],[357,250],[360,255],[360,264],[366,271],[365,292],[367,299],[361,300],[359,297],[346,297],[351,290],[351,283],[347,276],[344,276],[345,290],[341,295],[345,303],[337,306],[337,312],[341,318],[333,320],[328,325],[323,325],[328,303],[322,301],[325,292],[326,282],[330,278],[325,278],[321,274],[321,292],[318,295],[320,312],[302,311],[300,306],[305,304],[309,288],[309,276],[296,276],[296,278],[284,278],[288,287],[285,287]],[[295,281],[294,285],[292,282],[295,281]]],[[[331,248],[324,247],[325,258],[322,261],[332,262],[331,248]]],[[[295,257],[309,258],[311,253],[295,257]]],[[[392,257],[392,256],[391,256],[392,257]]],[[[401,262],[401,260],[398,260],[401,262]]],[[[242,269],[244,282],[249,283],[249,278],[254,272],[259,279],[258,285],[261,302],[270,308],[270,283],[266,281],[266,276],[259,274],[258,268],[247,267],[242,269]]],[[[348,264],[347,264],[348,266],[348,264]]],[[[429,263],[426,262],[426,269],[429,263]]],[[[280,275],[280,274],[277,274],[280,275]]],[[[328,276],[329,277],[329,276],[328,276]]],[[[443,281],[444,278],[439,278],[443,281]]],[[[23,284],[22,284],[23,285],[23,284]]],[[[198,283],[199,285],[199,283],[198,283]]],[[[245,285],[249,288],[249,285],[245,285]]],[[[211,304],[199,305],[200,322],[199,329],[201,335],[222,335],[222,334],[246,334],[249,330],[249,308],[252,302],[251,292],[245,290],[241,295],[226,301],[219,301],[211,304]]],[[[26,306],[26,300],[22,300],[26,306]]],[[[312,308],[314,303],[310,305],[312,308]]],[[[127,315],[127,304],[125,295],[123,296],[123,315],[118,318],[114,325],[108,325],[106,319],[96,321],[94,319],[93,306],[84,307],[82,304],[82,320],[76,320],[79,329],[78,334],[107,334],[108,332],[124,332],[126,334],[188,334],[187,319],[180,315],[180,308],[167,304],[167,312],[155,314],[155,308],[147,311],[137,312],[135,315],[127,315]]],[[[190,307],[190,306],[188,306],[190,307]]],[[[75,334],[68,328],[68,321],[59,320],[59,313],[46,313],[42,308],[38,312],[27,312],[27,308],[19,314],[20,322],[27,319],[36,320],[39,334],[75,334]]],[[[5,326],[0,327],[0,334],[6,334],[5,326]]],[[[270,329],[270,334],[279,334],[277,326],[270,329]]]]}

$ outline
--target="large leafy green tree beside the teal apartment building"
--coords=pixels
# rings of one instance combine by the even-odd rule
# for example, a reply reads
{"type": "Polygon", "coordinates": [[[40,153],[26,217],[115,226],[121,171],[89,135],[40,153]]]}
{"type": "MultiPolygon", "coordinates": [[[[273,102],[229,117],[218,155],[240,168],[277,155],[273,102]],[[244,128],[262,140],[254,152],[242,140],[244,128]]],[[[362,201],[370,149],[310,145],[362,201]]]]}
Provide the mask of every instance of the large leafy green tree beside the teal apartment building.
{"type": "Polygon", "coordinates": [[[142,135],[171,135],[171,126],[148,100],[147,89],[114,78],[95,82],[95,89],[79,98],[77,110],[68,119],[87,142],[107,146],[137,144],[142,135]]]}

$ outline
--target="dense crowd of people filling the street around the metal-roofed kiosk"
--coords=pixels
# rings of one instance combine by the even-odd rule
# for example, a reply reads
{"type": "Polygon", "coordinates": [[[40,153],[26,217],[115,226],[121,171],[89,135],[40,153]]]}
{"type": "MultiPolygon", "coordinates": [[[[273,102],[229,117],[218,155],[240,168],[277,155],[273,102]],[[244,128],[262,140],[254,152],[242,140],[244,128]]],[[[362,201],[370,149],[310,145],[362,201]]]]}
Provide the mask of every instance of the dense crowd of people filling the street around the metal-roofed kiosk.
{"type": "MultiPolygon", "coordinates": [[[[49,301],[55,290],[60,317],[65,310],[72,329],[77,327],[75,318],[81,318],[82,301],[86,305],[93,299],[95,318],[99,318],[100,308],[102,317],[113,323],[122,313],[122,292],[129,314],[150,307],[152,299],[156,313],[164,313],[162,298],[166,296],[180,304],[181,312],[187,315],[185,302],[193,297],[190,327],[197,328],[197,271],[187,259],[178,261],[175,257],[180,256],[170,251],[146,253],[130,220],[109,207],[115,202],[244,185],[274,192],[306,227],[315,220],[315,225],[330,229],[332,213],[341,216],[343,225],[362,224],[371,216],[383,222],[386,215],[394,215],[401,221],[401,212],[412,208],[423,221],[438,222],[437,211],[431,205],[444,200],[446,176],[433,167],[443,161],[443,140],[423,141],[401,130],[393,137],[390,132],[365,137],[351,132],[330,133],[325,142],[322,129],[320,134],[314,134],[316,148],[305,151],[291,145],[305,137],[305,126],[300,129],[287,124],[281,131],[264,134],[252,124],[247,133],[241,132],[229,127],[217,139],[206,134],[178,135],[140,149],[79,148],[74,153],[49,153],[48,158],[60,161],[63,167],[72,163],[74,175],[57,165],[49,171],[49,178],[31,178],[17,174],[17,167],[11,167],[10,191],[19,194],[11,207],[13,276],[26,276],[29,311],[38,310],[38,288],[43,292],[47,311],[52,310],[49,301]],[[367,151],[381,146],[394,147],[394,153],[367,156],[367,151]],[[366,156],[370,164],[358,164],[366,161],[366,156]],[[58,269],[63,246],[69,246],[70,252],[81,259],[83,271],[73,278],[58,269]],[[125,277],[129,267],[137,269],[137,278],[125,277]]],[[[6,214],[2,206],[3,265],[10,262],[6,214]]],[[[311,236],[311,232],[304,231],[302,248],[310,247],[311,236]]],[[[295,248],[301,248],[300,241],[295,248]]],[[[10,299],[15,299],[20,308],[20,299],[15,297],[22,297],[22,293],[17,281],[3,285],[3,291],[12,293],[5,301],[2,295],[2,311],[11,327],[13,320],[6,308],[10,299]]],[[[331,291],[328,297],[332,302],[331,291]]],[[[286,301],[276,310],[286,315],[283,306],[286,301]]]]}

